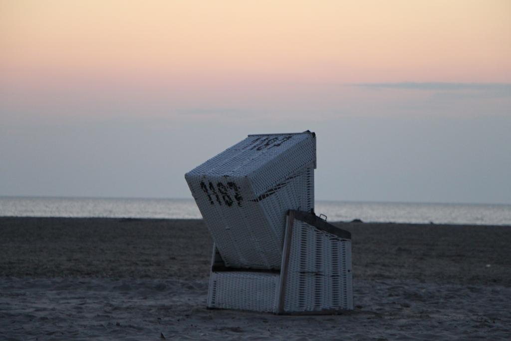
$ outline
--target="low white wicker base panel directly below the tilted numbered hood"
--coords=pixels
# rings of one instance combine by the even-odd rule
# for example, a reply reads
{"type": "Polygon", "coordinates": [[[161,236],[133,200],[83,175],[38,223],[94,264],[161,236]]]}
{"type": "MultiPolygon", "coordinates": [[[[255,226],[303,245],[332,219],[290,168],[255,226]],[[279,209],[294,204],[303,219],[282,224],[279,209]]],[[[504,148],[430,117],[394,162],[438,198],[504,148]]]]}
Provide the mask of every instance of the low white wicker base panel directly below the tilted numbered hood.
{"type": "Polygon", "coordinates": [[[278,279],[265,272],[212,272],[207,307],[275,312],[278,279]]]}

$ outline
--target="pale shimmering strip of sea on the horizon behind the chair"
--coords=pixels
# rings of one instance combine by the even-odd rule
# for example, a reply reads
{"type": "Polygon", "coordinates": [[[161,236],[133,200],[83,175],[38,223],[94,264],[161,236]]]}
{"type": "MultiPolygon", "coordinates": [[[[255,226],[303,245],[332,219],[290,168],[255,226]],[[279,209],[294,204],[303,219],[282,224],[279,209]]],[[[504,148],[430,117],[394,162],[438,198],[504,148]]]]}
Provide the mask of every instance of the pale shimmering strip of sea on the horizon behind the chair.
{"type": "MultiPolygon", "coordinates": [[[[316,201],[328,221],[511,225],[509,204],[316,201]]],[[[193,199],[0,197],[0,216],[200,219],[193,199]]]]}

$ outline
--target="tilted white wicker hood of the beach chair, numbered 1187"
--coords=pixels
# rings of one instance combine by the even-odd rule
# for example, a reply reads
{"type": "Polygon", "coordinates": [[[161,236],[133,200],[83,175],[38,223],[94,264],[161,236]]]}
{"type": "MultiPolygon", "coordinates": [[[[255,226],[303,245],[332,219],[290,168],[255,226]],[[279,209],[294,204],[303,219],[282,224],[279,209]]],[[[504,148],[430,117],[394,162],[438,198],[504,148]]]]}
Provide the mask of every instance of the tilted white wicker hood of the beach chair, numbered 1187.
{"type": "Polygon", "coordinates": [[[285,215],[314,205],[312,133],[250,135],[185,174],[227,267],[278,269],[285,215]]]}

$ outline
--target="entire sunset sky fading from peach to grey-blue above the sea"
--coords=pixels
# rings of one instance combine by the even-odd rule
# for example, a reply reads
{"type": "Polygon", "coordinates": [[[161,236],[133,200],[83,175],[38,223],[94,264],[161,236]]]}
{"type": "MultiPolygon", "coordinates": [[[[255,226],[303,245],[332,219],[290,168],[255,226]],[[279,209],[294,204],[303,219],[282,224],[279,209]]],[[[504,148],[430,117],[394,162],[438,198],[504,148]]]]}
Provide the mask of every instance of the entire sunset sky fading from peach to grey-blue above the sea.
{"type": "Polygon", "coordinates": [[[0,0],[0,196],[191,198],[307,129],[316,199],[511,203],[511,2],[0,0]]]}

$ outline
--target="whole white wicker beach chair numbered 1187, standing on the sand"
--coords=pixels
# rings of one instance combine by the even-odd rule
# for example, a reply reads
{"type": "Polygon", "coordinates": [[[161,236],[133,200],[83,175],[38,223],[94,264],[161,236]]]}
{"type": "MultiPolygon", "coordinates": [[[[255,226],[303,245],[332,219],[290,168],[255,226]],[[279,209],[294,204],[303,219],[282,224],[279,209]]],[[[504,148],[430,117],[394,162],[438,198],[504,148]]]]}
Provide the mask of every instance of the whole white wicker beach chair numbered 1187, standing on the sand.
{"type": "Polygon", "coordinates": [[[314,212],[316,137],[249,135],[185,174],[210,231],[207,307],[353,309],[351,234],[314,212]]]}

